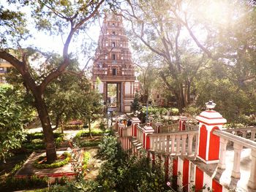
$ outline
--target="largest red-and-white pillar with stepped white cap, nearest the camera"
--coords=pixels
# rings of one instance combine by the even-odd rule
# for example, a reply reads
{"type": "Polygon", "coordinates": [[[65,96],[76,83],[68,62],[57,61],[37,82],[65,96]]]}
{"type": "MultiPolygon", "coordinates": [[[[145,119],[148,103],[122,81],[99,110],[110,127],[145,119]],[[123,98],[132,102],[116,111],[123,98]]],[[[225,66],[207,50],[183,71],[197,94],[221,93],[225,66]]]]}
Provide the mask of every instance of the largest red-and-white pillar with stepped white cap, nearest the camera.
{"type": "Polygon", "coordinates": [[[214,130],[222,129],[227,122],[219,112],[206,110],[196,117],[199,121],[199,145],[197,157],[206,164],[219,162],[219,137],[214,130]]]}

